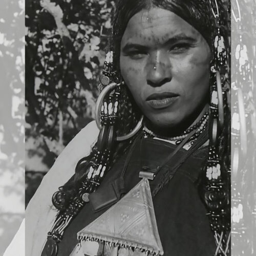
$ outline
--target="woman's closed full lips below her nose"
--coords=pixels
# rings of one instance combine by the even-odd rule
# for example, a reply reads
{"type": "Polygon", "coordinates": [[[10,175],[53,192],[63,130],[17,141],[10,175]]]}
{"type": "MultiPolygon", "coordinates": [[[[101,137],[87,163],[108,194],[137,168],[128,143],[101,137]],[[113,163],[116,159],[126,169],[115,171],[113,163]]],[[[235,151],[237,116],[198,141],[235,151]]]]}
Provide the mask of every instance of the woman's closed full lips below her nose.
{"type": "Polygon", "coordinates": [[[164,109],[172,105],[179,95],[174,93],[162,93],[162,94],[152,94],[147,97],[146,102],[153,109],[164,109]]]}

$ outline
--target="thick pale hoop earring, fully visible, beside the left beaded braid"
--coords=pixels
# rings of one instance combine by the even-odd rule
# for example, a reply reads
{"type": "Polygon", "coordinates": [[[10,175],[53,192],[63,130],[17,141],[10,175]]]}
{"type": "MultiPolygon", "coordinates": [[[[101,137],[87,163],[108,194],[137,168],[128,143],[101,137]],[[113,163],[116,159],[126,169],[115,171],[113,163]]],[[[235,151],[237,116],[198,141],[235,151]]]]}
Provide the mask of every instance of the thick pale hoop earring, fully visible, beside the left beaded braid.
{"type": "MultiPolygon", "coordinates": [[[[101,106],[102,103],[104,101],[104,97],[110,93],[111,91],[113,91],[115,89],[116,86],[120,86],[120,84],[117,83],[111,83],[108,86],[106,86],[100,93],[97,102],[96,102],[96,109],[95,109],[95,121],[96,124],[98,126],[98,129],[101,130],[102,129],[102,125],[100,122],[100,112],[101,112],[101,106]]],[[[128,140],[130,138],[132,138],[142,127],[142,122],[143,122],[143,115],[141,116],[139,122],[137,123],[137,125],[135,126],[135,128],[128,134],[123,135],[123,136],[117,136],[116,140],[117,141],[123,141],[123,140],[128,140]]]]}

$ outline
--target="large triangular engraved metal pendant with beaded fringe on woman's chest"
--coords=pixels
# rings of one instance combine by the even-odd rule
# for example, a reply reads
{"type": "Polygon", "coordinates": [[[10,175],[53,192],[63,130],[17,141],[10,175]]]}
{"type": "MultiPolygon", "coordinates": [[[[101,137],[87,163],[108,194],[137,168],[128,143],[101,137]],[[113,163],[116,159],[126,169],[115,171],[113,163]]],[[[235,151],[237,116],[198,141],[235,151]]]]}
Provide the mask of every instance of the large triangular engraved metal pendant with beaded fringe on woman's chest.
{"type": "Polygon", "coordinates": [[[119,202],[79,231],[77,236],[80,242],[95,241],[163,255],[148,180],[143,178],[119,202]]]}

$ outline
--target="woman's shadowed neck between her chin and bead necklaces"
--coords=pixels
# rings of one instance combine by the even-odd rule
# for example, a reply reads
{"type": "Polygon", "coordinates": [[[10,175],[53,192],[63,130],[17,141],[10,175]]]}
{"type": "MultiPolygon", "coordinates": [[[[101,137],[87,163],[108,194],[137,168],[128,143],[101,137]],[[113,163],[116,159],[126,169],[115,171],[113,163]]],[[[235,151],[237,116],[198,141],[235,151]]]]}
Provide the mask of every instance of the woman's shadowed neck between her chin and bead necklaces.
{"type": "Polygon", "coordinates": [[[201,110],[195,111],[192,113],[185,121],[172,126],[172,127],[159,127],[154,125],[150,120],[145,119],[145,125],[150,129],[154,134],[163,136],[163,137],[175,137],[180,136],[184,131],[188,130],[190,127],[193,127],[197,124],[204,114],[209,110],[209,104],[206,104],[201,110]]]}

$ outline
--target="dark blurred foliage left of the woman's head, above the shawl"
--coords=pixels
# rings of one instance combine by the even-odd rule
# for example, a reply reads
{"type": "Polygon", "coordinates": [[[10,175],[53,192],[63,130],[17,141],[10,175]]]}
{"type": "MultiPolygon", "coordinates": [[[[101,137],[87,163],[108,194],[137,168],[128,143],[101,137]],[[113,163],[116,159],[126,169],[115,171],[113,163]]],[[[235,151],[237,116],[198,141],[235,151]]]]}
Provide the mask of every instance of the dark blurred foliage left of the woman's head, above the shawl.
{"type": "Polygon", "coordinates": [[[109,0],[26,0],[26,206],[94,119],[112,10],[109,0]]]}

